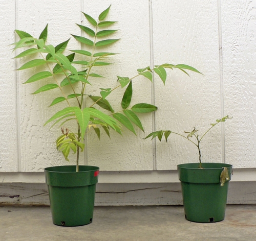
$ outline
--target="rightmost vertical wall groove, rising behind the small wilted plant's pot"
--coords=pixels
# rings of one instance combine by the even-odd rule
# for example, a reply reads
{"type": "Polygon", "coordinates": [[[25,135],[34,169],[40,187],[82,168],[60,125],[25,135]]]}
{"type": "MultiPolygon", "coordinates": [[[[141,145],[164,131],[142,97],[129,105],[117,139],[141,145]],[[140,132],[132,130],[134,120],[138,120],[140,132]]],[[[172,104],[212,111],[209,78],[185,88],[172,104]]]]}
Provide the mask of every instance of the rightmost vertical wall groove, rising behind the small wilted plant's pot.
{"type": "MultiPolygon", "coordinates": [[[[225,116],[225,111],[224,111],[221,0],[218,0],[218,27],[219,27],[219,63],[220,63],[220,101],[221,101],[221,117],[223,117],[223,116],[225,116]]],[[[222,159],[222,162],[225,163],[225,126],[224,126],[224,122],[221,123],[221,159],[222,159]]]]}

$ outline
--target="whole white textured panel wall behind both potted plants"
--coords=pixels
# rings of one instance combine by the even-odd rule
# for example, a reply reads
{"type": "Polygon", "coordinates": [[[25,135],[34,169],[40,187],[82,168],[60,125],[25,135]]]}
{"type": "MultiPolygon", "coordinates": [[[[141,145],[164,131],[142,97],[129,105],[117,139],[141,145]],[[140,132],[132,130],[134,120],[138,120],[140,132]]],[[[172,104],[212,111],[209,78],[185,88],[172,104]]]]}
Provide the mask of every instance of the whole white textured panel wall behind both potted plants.
{"type": "MultiPolygon", "coordinates": [[[[47,106],[57,93],[31,95],[40,82],[21,85],[28,76],[13,71],[22,64],[11,59],[15,53],[8,45],[15,41],[13,30],[39,36],[49,23],[48,41],[56,45],[70,33],[80,33],[75,23],[83,20],[81,11],[96,18],[110,4],[108,19],[118,21],[116,35],[121,37],[112,51],[120,55],[113,58],[116,65],[108,67],[108,79],[102,84],[115,86],[116,75],[132,77],[137,68],[153,63],[185,63],[204,75],[189,78],[170,70],[165,86],[156,76],[153,87],[138,78],[134,102],[159,107],[155,118],[143,117],[145,134],[113,134],[111,140],[102,136],[100,141],[88,136],[82,163],[107,171],[176,169],[178,163],[197,161],[196,147],[177,136],[167,143],[142,138],[159,129],[183,132],[196,126],[204,131],[222,114],[230,114],[233,119],[225,124],[225,133],[216,127],[202,142],[203,161],[222,162],[225,156],[234,167],[256,167],[256,0],[0,0],[0,4],[0,172],[38,172],[66,164],[53,144],[59,132],[42,127],[56,110],[57,106],[47,106]]],[[[78,45],[74,39],[70,44],[70,48],[78,45]]],[[[93,91],[98,87],[102,85],[93,91]]]]}

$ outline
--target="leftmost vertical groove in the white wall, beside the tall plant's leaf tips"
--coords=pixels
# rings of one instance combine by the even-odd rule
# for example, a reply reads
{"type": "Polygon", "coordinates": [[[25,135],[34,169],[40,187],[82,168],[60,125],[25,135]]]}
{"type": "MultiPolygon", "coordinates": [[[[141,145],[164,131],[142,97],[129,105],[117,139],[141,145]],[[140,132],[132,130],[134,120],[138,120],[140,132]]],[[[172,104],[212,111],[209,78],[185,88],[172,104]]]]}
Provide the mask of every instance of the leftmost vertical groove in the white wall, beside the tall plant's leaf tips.
{"type": "MultiPolygon", "coordinates": [[[[18,27],[18,0],[15,0],[14,3],[15,7],[15,29],[18,27]]],[[[14,34],[15,42],[17,41],[16,34],[14,34]]],[[[15,56],[17,55],[17,50],[15,50],[15,56]]],[[[17,69],[17,59],[15,59],[15,69],[17,69]]],[[[16,141],[17,141],[17,167],[18,172],[22,172],[22,154],[21,154],[21,139],[20,139],[20,109],[19,109],[19,73],[16,71],[15,74],[15,90],[16,90],[16,96],[15,96],[15,104],[16,104],[16,141]]]]}

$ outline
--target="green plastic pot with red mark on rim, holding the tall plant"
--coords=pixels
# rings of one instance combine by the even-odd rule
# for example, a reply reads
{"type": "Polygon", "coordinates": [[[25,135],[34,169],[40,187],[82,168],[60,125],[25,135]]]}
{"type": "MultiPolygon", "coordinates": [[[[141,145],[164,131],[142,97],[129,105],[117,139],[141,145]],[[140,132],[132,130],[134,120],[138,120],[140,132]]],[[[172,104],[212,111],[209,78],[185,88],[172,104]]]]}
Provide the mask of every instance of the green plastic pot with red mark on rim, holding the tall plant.
{"type": "Polygon", "coordinates": [[[79,165],[45,168],[53,223],[81,226],[93,221],[99,167],[79,165]]]}

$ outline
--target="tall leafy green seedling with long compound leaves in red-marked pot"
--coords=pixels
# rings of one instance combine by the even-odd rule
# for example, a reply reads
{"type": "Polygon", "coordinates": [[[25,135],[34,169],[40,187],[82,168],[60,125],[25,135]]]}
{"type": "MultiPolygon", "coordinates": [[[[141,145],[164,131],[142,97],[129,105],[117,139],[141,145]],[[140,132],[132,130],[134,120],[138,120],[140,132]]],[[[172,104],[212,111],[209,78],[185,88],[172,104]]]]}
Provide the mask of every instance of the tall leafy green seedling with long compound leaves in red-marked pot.
{"type": "MultiPolygon", "coordinates": [[[[137,103],[130,106],[133,81],[136,77],[144,76],[152,82],[153,73],[156,73],[165,83],[166,68],[178,68],[186,74],[186,70],[199,73],[197,69],[185,64],[165,63],[153,68],[147,66],[137,69],[137,73],[131,78],[117,76],[118,85],[100,88],[99,95],[87,93],[88,85],[93,85],[96,78],[103,78],[98,69],[112,64],[109,60],[115,53],[108,52],[108,46],[119,40],[111,38],[111,35],[117,30],[112,29],[116,21],[105,20],[109,10],[110,7],[100,13],[97,20],[89,14],[83,13],[88,25],[77,24],[77,26],[82,31],[82,35],[86,37],[72,35],[74,39],[80,42],[81,47],[77,50],[66,50],[70,39],[57,45],[48,43],[48,25],[41,32],[39,38],[31,36],[27,32],[15,30],[20,40],[14,43],[14,50],[25,49],[15,58],[30,56],[32,59],[17,70],[35,68],[36,71],[36,74],[29,77],[25,84],[41,82],[42,87],[35,90],[33,94],[41,94],[42,92],[47,94],[53,89],[58,89],[59,96],[52,100],[50,106],[66,102],[67,106],[57,111],[46,121],[45,125],[52,123],[51,127],[60,129],[61,134],[56,140],[57,149],[62,152],[67,161],[69,161],[71,152],[76,154],[77,172],[79,171],[79,153],[84,149],[84,137],[89,131],[94,130],[99,139],[102,132],[110,136],[111,130],[122,134],[123,127],[134,134],[136,134],[135,126],[144,131],[138,113],[153,112],[157,110],[157,107],[147,103],[137,103]],[[102,49],[105,50],[102,51],[102,49]],[[41,71],[42,66],[45,67],[44,71],[41,71]],[[49,78],[51,83],[49,83],[49,78]],[[68,86],[69,88],[67,88],[68,86]],[[115,92],[117,88],[122,88],[123,94],[116,96],[116,98],[120,98],[121,106],[119,110],[115,111],[108,101],[108,96],[117,93],[115,92]],[[86,106],[86,98],[92,100],[91,105],[86,106]],[[71,99],[75,99],[75,104],[71,99]],[[72,128],[67,128],[66,123],[71,123],[69,126],[72,128]]],[[[113,80],[113,83],[116,83],[116,79],[113,80]]],[[[52,95],[49,94],[49,98],[52,98],[52,95]]]]}

